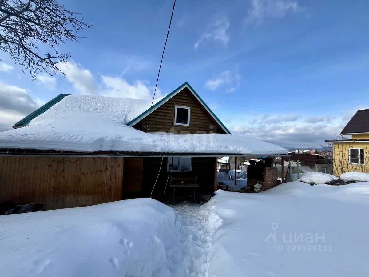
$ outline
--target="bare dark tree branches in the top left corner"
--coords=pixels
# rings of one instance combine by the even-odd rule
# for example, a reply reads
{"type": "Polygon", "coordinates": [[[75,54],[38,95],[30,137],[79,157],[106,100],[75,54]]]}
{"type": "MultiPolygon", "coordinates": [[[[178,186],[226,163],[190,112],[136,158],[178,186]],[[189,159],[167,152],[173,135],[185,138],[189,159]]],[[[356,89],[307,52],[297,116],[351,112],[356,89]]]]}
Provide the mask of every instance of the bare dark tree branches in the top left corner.
{"type": "Polygon", "coordinates": [[[70,53],[59,53],[56,46],[78,41],[75,33],[92,26],[76,15],[56,0],[0,0],[0,50],[20,64],[23,72],[28,70],[32,79],[41,71],[65,75],[57,65],[70,53]],[[41,45],[50,50],[41,54],[41,45]]]}

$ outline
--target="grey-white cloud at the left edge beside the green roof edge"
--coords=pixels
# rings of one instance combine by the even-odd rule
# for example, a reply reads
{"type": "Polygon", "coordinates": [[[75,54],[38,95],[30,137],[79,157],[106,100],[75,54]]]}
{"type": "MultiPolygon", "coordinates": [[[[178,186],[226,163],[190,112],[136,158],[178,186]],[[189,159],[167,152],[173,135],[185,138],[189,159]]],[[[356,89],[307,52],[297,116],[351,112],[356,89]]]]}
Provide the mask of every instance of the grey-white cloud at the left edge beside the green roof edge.
{"type": "Polygon", "coordinates": [[[27,90],[0,82],[0,131],[11,130],[12,125],[42,104],[41,100],[33,99],[27,90]]]}

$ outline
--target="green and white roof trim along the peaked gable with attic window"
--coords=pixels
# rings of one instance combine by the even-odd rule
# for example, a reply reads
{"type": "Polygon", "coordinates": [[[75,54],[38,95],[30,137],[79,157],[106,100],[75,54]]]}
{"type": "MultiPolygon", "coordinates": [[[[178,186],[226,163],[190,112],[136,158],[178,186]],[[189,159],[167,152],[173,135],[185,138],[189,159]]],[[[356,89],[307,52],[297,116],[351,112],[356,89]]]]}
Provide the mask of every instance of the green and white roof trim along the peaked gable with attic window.
{"type": "MultiPolygon", "coordinates": [[[[180,90],[184,89],[185,87],[189,88],[190,91],[194,94],[194,96],[200,101],[200,103],[205,107],[205,109],[211,114],[211,116],[213,116],[213,118],[215,119],[215,121],[220,125],[220,127],[223,128],[223,130],[227,133],[227,134],[231,134],[230,130],[228,130],[227,127],[225,127],[225,125],[223,124],[223,122],[220,121],[220,119],[215,115],[215,113],[213,113],[213,111],[209,108],[208,105],[206,105],[206,103],[204,102],[203,99],[201,99],[201,97],[197,94],[197,92],[192,88],[192,86],[188,83],[188,82],[184,82],[182,85],[180,85],[178,88],[176,88],[175,90],[173,90],[171,93],[169,93],[167,96],[165,96],[163,99],[161,99],[158,103],[156,103],[155,105],[152,106],[151,111],[153,112],[154,110],[156,110],[158,107],[160,107],[161,105],[163,105],[166,101],[168,101],[170,98],[172,98],[173,96],[175,96],[178,92],[180,92],[180,90]]],[[[145,110],[145,112],[141,113],[139,116],[137,116],[135,119],[132,119],[130,122],[127,123],[128,126],[133,126],[134,124],[136,124],[138,121],[140,121],[141,119],[143,119],[144,117],[148,116],[148,113],[150,112],[150,108],[145,110]]]]}

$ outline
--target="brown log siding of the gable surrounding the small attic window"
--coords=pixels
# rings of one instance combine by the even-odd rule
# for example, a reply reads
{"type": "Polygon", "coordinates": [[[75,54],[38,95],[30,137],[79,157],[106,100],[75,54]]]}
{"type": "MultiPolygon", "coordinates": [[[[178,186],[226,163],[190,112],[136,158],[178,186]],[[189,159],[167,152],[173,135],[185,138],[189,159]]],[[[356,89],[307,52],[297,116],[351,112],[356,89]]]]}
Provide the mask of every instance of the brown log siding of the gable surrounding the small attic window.
{"type": "Polygon", "coordinates": [[[225,132],[215,122],[211,115],[204,109],[189,89],[184,88],[172,99],[168,100],[149,116],[146,116],[134,126],[145,132],[172,132],[172,133],[222,133],[225,132]],[[175,105],[190,107],[190,126],[179,126],[174,124],[175,105]]]}

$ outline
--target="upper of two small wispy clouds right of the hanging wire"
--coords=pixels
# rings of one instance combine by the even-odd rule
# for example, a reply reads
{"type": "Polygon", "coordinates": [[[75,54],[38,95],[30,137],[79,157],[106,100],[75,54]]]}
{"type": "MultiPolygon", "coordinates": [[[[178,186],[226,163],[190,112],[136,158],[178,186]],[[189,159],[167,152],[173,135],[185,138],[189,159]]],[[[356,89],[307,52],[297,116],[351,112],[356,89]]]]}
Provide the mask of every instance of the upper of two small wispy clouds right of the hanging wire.
{"type": "Polygon", "coordinates": [[[204,40],[220,42],[224,47],[227,47],[230,40],[228,28],[230,21],[225,16],[217,16],[214,23],[207,25],[204,32],[196,41],[194,48],[197,49],[204,40]]]}

